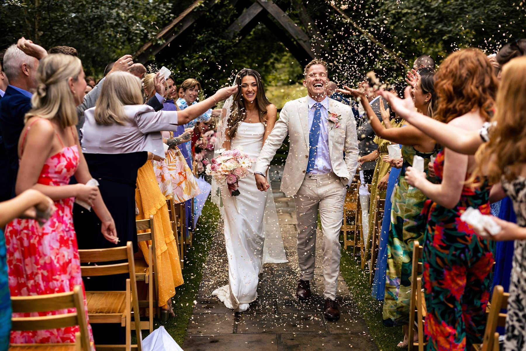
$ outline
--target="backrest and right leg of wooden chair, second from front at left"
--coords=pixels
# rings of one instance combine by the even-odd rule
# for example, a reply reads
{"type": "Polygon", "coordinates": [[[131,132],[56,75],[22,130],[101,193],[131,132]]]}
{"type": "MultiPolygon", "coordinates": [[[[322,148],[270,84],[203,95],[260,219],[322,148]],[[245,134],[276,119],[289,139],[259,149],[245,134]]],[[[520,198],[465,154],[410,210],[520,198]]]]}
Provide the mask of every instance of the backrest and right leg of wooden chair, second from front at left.
{"type": "MultiPolygon", "coordinates": [[[[105,276],[124,274],[129,275],[129,284],[131,289],[131,302],[134,310],[134,322],[137,335],[137,349],[142,351],[143,336],[140,332],[140,317],[139,317],[139,299],[137,295],[137,280],[135,278],[135,260],[133,255],[133,248],[131,242],[127,242],[126,246],[114,248],[96,248],[88,250],[78,250],[80,256],[80,263],[98,263],[96,266],[80,266],[80,272],[83,277],[105,276]],[[118,260],[127,260],[124,263],[103,264],[105,262],[112,262],[118,260]],[[102,264],[101,264],[102,263],[102,264]]],[[[131,323],[131,320],[127,321],[131,323]]],[[[126,340],[128,342],[129,340],[126,340]]]]}

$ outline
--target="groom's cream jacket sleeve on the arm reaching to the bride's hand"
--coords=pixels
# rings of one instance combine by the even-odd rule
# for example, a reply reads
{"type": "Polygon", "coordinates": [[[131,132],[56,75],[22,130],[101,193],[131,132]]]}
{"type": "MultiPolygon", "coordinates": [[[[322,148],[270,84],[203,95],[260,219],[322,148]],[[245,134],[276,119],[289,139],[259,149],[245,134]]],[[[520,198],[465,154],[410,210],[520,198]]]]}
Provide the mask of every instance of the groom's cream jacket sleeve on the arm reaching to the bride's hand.
{"type": "Polygon", "coordinates": [[[272,128],[272,132],[270,132],[270,135],[265,141],[265,145],[263,145],[263,148],[261,149],[254,172],[262,174],[267,172],[272,158],[274,158],[274,155],[276,155],[276,152],[289,134],[288,106],[290,106],[290,104],[286,103],[281,109],[279,119],[276,121],[274,128],[272,128]]]}

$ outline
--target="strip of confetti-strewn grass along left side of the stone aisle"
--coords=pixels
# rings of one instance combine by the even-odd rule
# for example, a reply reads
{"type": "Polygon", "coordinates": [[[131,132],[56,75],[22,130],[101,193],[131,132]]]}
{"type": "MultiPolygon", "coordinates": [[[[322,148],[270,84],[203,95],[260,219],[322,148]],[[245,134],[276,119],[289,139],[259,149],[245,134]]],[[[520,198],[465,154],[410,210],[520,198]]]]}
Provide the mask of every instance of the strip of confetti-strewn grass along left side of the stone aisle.
{"type": "Polygon", "coordinates": [[[210,250],[212,238],[217,229],[219,221],[219,210],[208,199],[203,207],[203,213],[199,217],[197,228],[194,233],[193,247],[188,248],[187,258],[183,268],[183,278],[185,283],[175,289],[174,312],[175,318],[168,319],[166,323],[155,322],[164,325],[166,331],[174,338],[179,345],[183,345],[186,328],[190,315],[194,309],[194,300],[203,276],[203,268],[210,250]]]}

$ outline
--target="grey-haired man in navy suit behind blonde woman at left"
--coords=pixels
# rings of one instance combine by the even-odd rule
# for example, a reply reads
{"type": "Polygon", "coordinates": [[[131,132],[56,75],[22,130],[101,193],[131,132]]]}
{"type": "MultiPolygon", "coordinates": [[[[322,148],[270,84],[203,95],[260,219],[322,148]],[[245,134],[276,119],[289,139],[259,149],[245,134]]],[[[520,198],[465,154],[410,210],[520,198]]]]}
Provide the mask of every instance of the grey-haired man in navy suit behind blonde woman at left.
{"type": "Polygon", "coordinates": [[[15,196],[16,175],[18,173],[18,138],[24,128],[24,116],[31,109],[31,97],[37,86],[36,71],[38,59],[28,56],[11,45],[4,54],[3,69],[9,85],[0,100],[0,135],[7,153],[8,168],[0,172],[7,174],[4,188],[15,196]]]}

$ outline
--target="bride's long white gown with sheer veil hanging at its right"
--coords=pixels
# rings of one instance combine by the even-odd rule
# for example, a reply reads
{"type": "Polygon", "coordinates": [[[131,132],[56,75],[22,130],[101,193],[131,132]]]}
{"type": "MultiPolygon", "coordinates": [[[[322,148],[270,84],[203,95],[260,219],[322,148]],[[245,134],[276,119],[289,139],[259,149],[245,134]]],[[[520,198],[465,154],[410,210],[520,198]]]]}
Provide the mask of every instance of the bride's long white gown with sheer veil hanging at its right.
{"type": "MultiPolygon", "coordinates": [[[[256,161],[263,147],[264,133],[265,125],[262,123],[241,122],[231,140],[230,149],[240,149],[256,161]]],[[[272,189],[266,192],[257,189],[254,166],[245,178],[239,179],[240,195],[230,196],[226,187],[221,189],[229,284],[214,290],[212,295],[236,312],[247,310],[249,304],[256,300],[264,257],[269,263],[287,262],[272,189]]]]}

